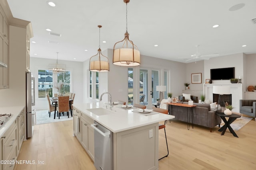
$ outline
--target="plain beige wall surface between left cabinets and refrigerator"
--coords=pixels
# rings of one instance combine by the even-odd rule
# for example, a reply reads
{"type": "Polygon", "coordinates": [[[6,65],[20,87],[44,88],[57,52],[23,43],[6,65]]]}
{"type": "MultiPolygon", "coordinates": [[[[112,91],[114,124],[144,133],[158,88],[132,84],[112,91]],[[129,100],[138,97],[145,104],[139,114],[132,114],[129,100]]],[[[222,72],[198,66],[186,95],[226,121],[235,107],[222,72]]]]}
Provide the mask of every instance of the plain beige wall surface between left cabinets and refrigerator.
{"type": "Polygon", "coordinates": [[[9,88],[0,89],[0,107],[26,105],[26,29],[9,27],[9,88]]]}

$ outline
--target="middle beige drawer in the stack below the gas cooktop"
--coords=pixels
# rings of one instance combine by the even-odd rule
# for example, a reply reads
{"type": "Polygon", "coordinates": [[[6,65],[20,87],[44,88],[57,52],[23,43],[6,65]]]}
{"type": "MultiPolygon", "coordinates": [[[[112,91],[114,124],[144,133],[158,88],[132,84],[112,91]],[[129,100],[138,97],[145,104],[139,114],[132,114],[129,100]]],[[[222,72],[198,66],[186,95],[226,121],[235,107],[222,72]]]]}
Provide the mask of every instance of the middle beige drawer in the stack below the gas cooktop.
{"type": "Polygon", "coordinates": [[[17,128],[15,128],[10,137],[4,143],[4,158],[8,158],[14,146],[17,146],[17,128]]]}

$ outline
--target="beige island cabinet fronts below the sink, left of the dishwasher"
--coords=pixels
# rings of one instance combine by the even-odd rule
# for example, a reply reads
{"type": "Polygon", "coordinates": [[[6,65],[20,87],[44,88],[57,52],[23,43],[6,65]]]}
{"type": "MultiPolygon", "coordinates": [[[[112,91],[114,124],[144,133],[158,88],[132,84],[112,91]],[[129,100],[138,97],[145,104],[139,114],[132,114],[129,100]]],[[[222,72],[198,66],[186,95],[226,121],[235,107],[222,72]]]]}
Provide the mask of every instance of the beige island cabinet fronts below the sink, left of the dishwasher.
{"type": "Polygon", "coordinates": [[[90,155],[91,159],[94,161],[94,130],[91,127],[91,124],[94,123],[93,119],[86,116],[80,110],[74,109],[74,135],[84,147],[86,152],[90,155]],[[79,118],[79,121],[76,121],[76,117],[79,118]],[[78,125],[79,123],[79,125],[78,125]],[[79,131],[76,132],[76,127],[78,126],[79,131]]]}

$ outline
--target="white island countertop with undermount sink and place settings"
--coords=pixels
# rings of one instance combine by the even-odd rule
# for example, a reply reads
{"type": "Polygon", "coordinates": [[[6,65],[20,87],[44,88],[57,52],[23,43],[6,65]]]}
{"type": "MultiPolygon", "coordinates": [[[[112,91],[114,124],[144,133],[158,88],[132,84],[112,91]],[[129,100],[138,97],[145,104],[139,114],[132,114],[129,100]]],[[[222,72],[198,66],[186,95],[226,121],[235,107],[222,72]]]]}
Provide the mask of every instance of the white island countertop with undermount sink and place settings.
{"type": "Polygon", "coordinates": [[[103,102],[94,102],[86,104],[80,103],[73,104],[73,106],[114,133],[134,129],[137,127],[142,127],[145,125],[150,125],[153,123],[158,123],[160,121],[168,119],[174,119],[173,115],[167,115],[163,113],[157,113],[154,115],[147,116],[142,115],[133,112],[138,110],[138,108],[125,110],[119,108],[121,105],[113,105],[114,107],[112,108],[112,111],[110,111],[110,109],[107,109],[106,112],[108,113],[105,115],[96,115],[88,111],[88,109],[93,108],[106,108],[106,104],[104,104],[103,102]]]}

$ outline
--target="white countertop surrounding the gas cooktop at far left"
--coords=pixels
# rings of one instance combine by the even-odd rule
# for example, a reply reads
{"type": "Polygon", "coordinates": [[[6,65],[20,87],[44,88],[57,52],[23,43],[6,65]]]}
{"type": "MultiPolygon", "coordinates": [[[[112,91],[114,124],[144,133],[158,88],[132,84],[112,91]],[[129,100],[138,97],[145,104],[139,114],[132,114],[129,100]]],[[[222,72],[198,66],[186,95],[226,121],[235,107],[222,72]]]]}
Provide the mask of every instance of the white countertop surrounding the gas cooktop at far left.
{"type": "Polygon", "coordinates": [[[12,113],[9,120],[2,127],[0,127],[0,137],[4,135],[6,130],[10,127],[10,125],[12,125],[12,123],[15,121],[15,119],[23,109],[24,106],[0,107],[0,114],[12,113]]]}

